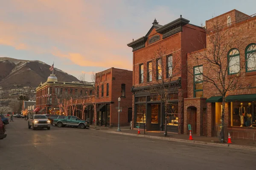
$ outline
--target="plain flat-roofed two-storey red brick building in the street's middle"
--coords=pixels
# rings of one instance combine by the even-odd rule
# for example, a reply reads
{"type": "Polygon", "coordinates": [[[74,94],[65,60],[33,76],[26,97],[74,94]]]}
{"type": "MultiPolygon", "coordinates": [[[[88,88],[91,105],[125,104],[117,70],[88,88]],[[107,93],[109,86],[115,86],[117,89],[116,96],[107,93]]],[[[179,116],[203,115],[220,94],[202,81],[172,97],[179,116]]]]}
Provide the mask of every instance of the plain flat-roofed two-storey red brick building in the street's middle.
{"type": "MultiPolygon", "coordinates": [[[[118,124],[118,98],[120,101],[120,125],[129,125],[132,117],[132,71],[109,68],[96,73],[96,111],[97,125],[117,126],[118,124]]],[[[94,112],[90,106],[87,115],[93,124],[94,112]]]]}

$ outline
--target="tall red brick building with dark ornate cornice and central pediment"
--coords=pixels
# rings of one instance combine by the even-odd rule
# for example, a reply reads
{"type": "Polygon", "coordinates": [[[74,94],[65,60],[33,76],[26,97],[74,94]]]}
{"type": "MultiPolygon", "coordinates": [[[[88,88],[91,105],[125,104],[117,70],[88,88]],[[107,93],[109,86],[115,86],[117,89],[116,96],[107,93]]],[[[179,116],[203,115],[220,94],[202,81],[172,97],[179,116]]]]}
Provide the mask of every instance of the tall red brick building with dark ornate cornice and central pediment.
{"type": "MultiPolygon", "coordinates": [[[[177,68],[180,74],[173,77],[169,84],[169,94],[174,97],[169,100],[168,131],[183,133],[183,98],[187,98],[186,55],[195,49],[204,48],[204,43],[199,43],[198,37],[205,37],[205,30],[190,24],[181,15],[164,26],[158,24],[157,20],[152,24],[145,36],[128,43],[133,48],[133,127],[140,123],[143,128],[145,122],[146,130],[164,129],[163,103],[156,94],[148,92],[147,88],[150,82],[160,81],[157,80],[159,77],[154,76],[160,73],[157,68],[159,59],[154,54],[157,49],[166,48],[164,61],[161,61],[163,64],[169,68],[175,60],[180,61],[177,68]],[[157,69],[157,73],[152,73],[157,69]],[[175,110],[174,113],[171,113],[172,109],[175,110]]],[[[161,70],[161,73],[166,76],[168,70],[161,70]]]]}

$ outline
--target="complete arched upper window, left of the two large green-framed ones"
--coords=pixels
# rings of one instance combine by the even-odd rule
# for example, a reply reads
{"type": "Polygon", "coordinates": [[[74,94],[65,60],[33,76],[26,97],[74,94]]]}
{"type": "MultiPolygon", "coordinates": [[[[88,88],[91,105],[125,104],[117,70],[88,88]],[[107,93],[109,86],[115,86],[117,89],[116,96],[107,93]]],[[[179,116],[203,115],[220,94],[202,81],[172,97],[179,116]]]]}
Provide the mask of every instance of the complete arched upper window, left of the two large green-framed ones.
{"type": "Polygon", "coordinates": [[[238,49],[232,48],[227,54],[228,74],[236,74],[240,71],[240,54],[238,49]]]}

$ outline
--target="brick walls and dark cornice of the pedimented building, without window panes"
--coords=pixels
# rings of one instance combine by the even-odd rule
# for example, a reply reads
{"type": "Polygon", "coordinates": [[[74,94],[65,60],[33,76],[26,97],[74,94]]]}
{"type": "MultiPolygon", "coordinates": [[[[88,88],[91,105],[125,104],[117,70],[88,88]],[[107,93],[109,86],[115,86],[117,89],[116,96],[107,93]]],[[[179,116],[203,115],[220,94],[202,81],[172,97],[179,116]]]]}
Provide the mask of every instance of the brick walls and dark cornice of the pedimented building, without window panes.
{"type": "MultiPolygon", "coordinates": [[[[187,72],[186,72],[186,54],[195,49],[204,48],[203,43],[198,42],[198,38],[203,35],[205,37],[205,30],[202,27],[195,26],[189,24],[189,20],[186,20],[180,16],[175,21],[168,23],[164,26],[161,26],[157,23],[156,20],[152,23],[153,26],[150,28],[148,33],[141,37],[140,39],[134,40],[128,44],[129,47],[133,48],[133,127],[137,126],[136,123],[136,114],[137,108],[136,104],[139,104],[135,101],[137,96],[145,96],[146,100],[148,96],[154,95],[150,93],[145,93],[145,91],[139,91],[138,89],[143,89],[150,84],[154,84],[157,81],[156,79],[156,60],[158,56],[155,55],[155,52],[158,49],[165,49],[164,55],[172,55],[173,62],[179,61],[176,65],[177,70],[173,70],[175,77],[172,77],[172,81],[178,81],[180,79],[180,86],[175,88],[180,88],[179,90],[176,89],[175,93],[177,94],[178,98],[170,101],[170,102],[177,102],[178,105],[178,125],[177,126],[169,126],[168,129],[170,131],[174,131],[177,133],[183,133],[183,98],[187,98],[187,72]],[[155,38],[152,42],[152,39],[155,38]],[[193,44],[193,46],[191,45],[193,44]],[[152,62],[152,82],[149,84],[147,82],[147,63],[152,62]],[[144,82],[140,83],[140,65],[143,64],[143,79],[144,82]]],[[[163,58],[162,61],[163,65],[166,65],[166,58],[163,58]]],[[[163,76],[166,75],[166,70],[162,71],[163,76]]],[[[174,88],[170,88],[170,93],[173,93],[174,88]],[[171,92],[172,91],[172,92],[171,92]]],[[[146,116],[146,130],[163,130],[163,103],[161,102],[150,102],[145,101],[141,102],[140,104],[145,104],[146,109],[144,113],[146,116]],[[151,123],[151,105],[160,105],[160,113],[157,116],[159,119],[158,124],[151,123]],[[149,118],[150,117],[150,118],[149,118]]],[[[141,126],[141,124],[140,124],[141,126]]]]}

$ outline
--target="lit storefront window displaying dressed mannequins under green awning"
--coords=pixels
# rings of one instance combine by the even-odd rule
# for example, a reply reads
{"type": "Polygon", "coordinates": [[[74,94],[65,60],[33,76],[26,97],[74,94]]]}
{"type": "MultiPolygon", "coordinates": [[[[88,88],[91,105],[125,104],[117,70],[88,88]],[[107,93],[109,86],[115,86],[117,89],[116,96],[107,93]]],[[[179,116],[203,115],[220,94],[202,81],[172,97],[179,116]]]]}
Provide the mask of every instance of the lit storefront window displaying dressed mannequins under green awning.
{"type": "Polygon", "coordinates": [[[231,102],[231,125],[253,127],[256,120],[255,102],[231,102]]]}

